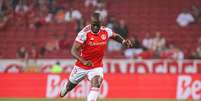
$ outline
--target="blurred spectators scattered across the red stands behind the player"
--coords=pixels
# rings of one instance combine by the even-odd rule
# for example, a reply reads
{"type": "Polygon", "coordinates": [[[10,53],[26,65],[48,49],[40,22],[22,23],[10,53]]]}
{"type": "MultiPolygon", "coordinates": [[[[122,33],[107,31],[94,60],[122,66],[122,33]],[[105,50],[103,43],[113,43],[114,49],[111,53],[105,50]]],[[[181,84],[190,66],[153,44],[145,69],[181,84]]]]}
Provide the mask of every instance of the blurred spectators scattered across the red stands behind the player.
{"type": "MultiPolygon", "coordinates": [[[[70,23],[75,22],[75,32],[78,33],[85,25],[89,24],[89,18],[83,15],[80,9],[75,8],[73,2],[75,0],[0,0],[0,30],[4,30],[9,26],[24,26],[30,29],[39,29],[47,23],[70,23]]],[[[192,52],[190,57],[184,55],[183,49],[177,47],[174,43],[167,42],[159,31],[147,32],[143,39],[138,38],[138,34],[130,35],[128,26],[124,19],[117,19],[111,16],[107,11],[106,0],[83,0],[85,7],[92,9],[92,12],[99,12],[103,24],[111,28],[114,32],[120,34],[124,38],[132,40],[133,48],[125,49],[120,43],[110,40],[108,43],[108,53],[119,52],[126,58],[134,59],[178,59],[184,58],[201,58],[201,38],[198,39],[198,46],[192,52]]],[[[186,11],[185,11],[186,12],[186,11]]],[[[183,12],[183,13],[185,13],[183,12]]],[[[198,20],[201,11],[198,7],[193,6],[192,18],[189,22],[185,22],[182,16],[178,15],[177,22],[180,26],[187,26],[188,23],[198,20]],[[193,12],[194,11],[194,12],[193,12]]],[[[189,15],[188,15],[189,16],[189,15]]],[[[183,17],[185,18],[185,17],[183,17]]],[[[52,35],[47,43],[38,49],[37,44],[33,43],[31,49],[19,46],[16,52],[17,58],[29,59],[40,58],[46,52],[55,50],[69,49],[70,43],[66,40],[68,35],[58,36],[52,35]]]]}

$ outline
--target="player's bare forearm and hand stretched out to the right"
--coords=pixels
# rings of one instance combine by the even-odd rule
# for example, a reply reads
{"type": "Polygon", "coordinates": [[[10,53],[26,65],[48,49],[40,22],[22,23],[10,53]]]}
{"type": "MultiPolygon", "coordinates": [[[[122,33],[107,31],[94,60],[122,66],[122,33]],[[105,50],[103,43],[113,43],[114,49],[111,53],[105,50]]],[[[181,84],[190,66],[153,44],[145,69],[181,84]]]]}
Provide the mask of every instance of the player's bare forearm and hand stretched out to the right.
{"type": "Polygon", "coordinates": [[[122,36],[120,36],[119,34],[116,34],[113,32],[111,38],[119,43],[121,43],[123,46],[130,48],[133,47],[132,43],[130,40],[128,39],[124,39],[122,36]]]}

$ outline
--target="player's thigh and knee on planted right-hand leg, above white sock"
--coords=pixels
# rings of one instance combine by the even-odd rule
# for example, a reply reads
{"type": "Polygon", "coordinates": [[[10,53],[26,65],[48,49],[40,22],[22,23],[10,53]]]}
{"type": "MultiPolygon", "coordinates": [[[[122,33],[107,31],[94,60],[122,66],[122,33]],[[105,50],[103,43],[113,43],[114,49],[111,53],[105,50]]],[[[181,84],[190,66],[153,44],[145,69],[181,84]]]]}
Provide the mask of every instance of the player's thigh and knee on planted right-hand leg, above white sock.
{"type": "Polygon", "coordinates": [[[92,87],[100,87],[103,81],[103,68],[95,68],[89,71],[88,79],[91,82],[92,87]]]}

